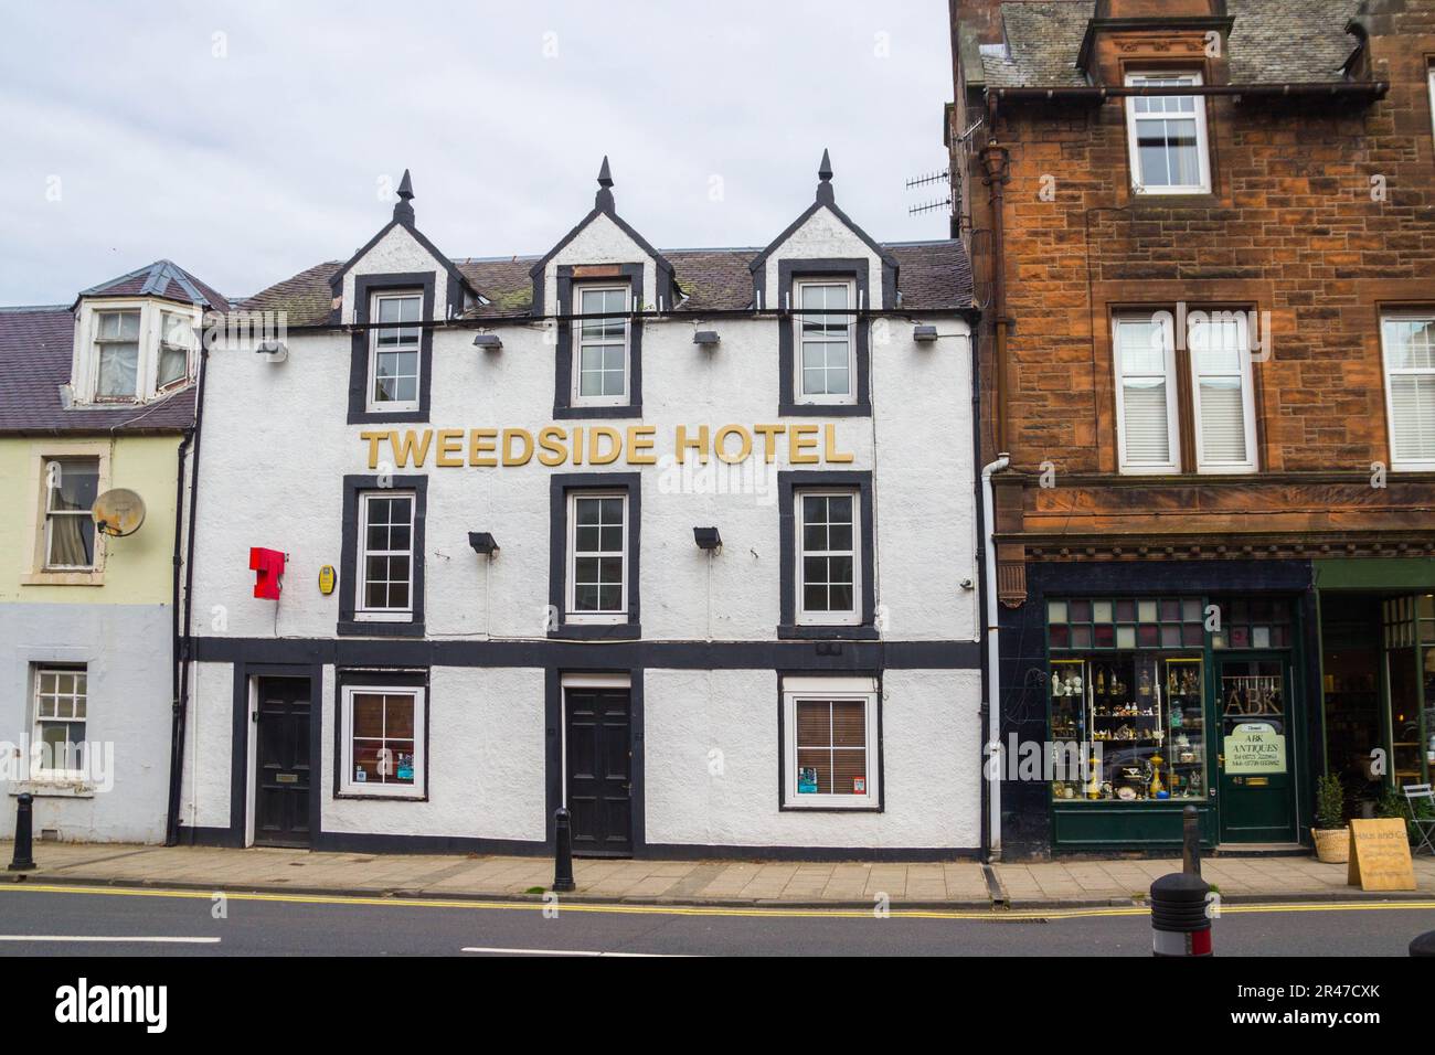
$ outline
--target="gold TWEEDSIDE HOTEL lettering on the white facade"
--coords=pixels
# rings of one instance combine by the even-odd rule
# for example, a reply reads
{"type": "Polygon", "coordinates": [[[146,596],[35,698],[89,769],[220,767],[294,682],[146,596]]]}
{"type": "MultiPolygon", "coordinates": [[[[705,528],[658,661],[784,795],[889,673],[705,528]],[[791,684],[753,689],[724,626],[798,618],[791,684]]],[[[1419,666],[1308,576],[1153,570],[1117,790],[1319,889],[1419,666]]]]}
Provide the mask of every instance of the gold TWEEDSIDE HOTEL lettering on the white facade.
{"type": "MultiPolygon", "coordinates": [[[[837,425],[679,425],[673,429],[670,451],[679,462],[692,458],[707,462],[716,458],[728,465],[759,455],[769,465],[778,459],[778,442],[786,438],[788,462],[792,465],[848,465],[851,451],[837,445],[837,425]]],[[[545,425],[528,429],[364,429],[359,439],[367,445],[369,468],[393,465],[400,469],[497,468],[499,465],[657,465],[657,428],[629,425],[545,425]]]]}

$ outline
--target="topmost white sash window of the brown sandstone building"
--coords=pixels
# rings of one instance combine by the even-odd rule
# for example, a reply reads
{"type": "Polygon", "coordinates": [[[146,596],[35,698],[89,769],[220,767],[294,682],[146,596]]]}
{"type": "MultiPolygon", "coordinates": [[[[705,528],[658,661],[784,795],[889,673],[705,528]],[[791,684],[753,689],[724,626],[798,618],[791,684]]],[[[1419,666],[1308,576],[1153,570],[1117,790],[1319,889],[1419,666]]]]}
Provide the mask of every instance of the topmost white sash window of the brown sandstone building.
{"type": "MultiPolygon", "coordinates": [[[[1135,88],[1187,88],[1201,75],[1131,73],[1135,88]]],[[[1134,95],[1126,98],[1131,179],[1138,194],[1208,194],[1205,99],[1198,95],[1134,95]]]]}

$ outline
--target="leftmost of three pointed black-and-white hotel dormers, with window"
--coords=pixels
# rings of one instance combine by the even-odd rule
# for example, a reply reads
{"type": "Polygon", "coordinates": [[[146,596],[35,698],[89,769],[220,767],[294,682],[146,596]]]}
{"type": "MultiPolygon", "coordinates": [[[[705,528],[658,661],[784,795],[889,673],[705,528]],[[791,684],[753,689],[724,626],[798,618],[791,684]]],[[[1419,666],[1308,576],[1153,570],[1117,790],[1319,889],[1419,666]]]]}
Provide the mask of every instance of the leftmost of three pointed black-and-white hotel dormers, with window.
{"type": "Polygon", "coordinates": [[[458,267],[413,224],[413,181],[403,171],[393,218],[329,278],[331,322],[352,337],[349,423],[429,418],[430,323],[479,300],[458,267]]]}

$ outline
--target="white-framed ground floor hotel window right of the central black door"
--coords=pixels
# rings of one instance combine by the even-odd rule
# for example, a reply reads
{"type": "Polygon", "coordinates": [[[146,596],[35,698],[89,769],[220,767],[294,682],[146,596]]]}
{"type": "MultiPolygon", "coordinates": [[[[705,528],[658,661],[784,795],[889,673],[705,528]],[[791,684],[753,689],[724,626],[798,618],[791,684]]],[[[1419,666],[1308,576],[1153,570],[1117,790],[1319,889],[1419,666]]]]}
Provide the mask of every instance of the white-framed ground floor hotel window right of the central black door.
{"type": "Polygon", "coordinates": [[[785,807],[877,807],[877,700],[871,677],[784,679],[785,807]]]}

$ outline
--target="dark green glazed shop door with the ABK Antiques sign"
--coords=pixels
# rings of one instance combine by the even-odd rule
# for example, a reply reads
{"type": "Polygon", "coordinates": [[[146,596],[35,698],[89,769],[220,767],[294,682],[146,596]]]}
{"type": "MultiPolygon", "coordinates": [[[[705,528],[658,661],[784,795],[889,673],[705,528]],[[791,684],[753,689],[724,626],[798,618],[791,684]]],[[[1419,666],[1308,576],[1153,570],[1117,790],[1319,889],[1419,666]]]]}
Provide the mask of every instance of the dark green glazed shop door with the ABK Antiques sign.
{"type": "Polygon", "coordinates": [[[1296,843],[1290,665],[1221,656],[1215,667],[1215,765],[1221,843],[1296,843]]]}

